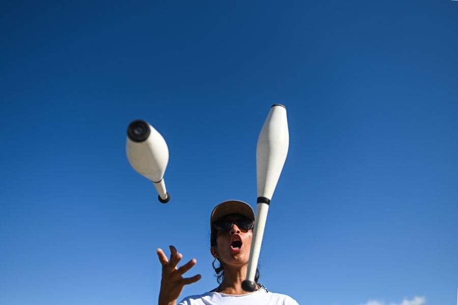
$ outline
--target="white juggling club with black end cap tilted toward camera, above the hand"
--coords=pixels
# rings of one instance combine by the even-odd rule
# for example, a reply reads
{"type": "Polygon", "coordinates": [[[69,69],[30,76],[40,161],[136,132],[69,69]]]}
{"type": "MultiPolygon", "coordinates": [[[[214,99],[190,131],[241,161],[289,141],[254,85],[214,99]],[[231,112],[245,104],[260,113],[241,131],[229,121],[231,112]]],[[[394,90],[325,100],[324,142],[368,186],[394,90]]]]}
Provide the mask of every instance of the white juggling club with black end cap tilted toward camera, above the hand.
{"type": "Polygon", "coordinates": [[[137,119],[127,128],[127,159],[139,174],[153,181],[159,201],[167,203],[164,173],[168,163],[168,147],[164,138],[148,122],[137,119]]]}

